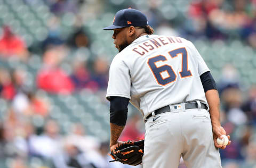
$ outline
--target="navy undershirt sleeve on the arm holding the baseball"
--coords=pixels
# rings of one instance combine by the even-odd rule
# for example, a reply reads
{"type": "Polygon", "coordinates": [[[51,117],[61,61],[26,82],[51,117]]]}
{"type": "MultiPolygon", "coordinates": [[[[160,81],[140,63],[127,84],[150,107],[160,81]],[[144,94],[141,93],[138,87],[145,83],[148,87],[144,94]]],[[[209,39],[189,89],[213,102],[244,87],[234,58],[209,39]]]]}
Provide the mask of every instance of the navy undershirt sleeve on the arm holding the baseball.
{"type": "Polygon", "coordinates": [[[215,83],[210,71],[203,73],[200,76],[200,79],[201,79],[201,82],[202,82],[202,85],[204,88],[204,93],[206,93],[207,90],[211,90],[211,89],[217,90],[216,83],[215,83]]]}

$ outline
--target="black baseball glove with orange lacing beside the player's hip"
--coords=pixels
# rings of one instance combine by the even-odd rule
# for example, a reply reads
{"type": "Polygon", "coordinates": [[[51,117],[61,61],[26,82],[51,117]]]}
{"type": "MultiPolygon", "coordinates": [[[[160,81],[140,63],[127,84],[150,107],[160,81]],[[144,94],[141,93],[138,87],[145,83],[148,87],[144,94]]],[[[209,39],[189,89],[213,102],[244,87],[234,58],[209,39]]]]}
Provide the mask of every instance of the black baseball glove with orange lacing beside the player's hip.
{"type": "Polygon", "coordinates": [[[142,156],[144,152],[144,140],[140,141],[126,141],[118,145],[111,153],[110,156],[115,162],[119,161],[123,164],[136,166],[142,163],[142,156]]]}

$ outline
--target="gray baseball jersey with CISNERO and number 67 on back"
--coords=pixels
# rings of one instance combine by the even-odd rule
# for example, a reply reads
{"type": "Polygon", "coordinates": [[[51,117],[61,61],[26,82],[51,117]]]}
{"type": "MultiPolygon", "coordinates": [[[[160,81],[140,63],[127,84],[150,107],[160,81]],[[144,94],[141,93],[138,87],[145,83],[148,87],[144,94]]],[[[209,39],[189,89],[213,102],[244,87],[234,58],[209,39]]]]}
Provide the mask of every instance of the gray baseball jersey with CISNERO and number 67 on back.
{"type": "Polygon", "coordinates": [[[144,117],[166,105],[195,100],[207,104],[200,80],[207,71],[190,41],[141,36],[114,57],[106,97],[129,98],[144,117]]]}

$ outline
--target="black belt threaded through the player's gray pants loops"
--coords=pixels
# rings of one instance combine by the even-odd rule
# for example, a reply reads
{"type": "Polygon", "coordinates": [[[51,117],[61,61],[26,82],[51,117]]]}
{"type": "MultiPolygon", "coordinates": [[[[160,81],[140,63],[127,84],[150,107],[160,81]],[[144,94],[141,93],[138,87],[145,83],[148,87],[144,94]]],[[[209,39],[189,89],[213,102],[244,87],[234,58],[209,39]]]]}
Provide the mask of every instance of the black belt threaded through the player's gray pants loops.
{"type": "MultiPolygon", "coordinates": [[[[185,103],[185,109],[192,109],[192,108],[198,108],[198,104],[196,102],[185,103]]],[[[208,107],[203,103],[201,103],[201,108],[203,108],[205,110],[208,109],[208,107]]],[[[162,108],[155,110],[155,114],[157,115],[157,114],[162,114],[162,113],[170,112],[170,111],[171,111],[170,106],[164,106],[162,108]]],[[[149,119],[149,117],[151,117],[151,116],[152,116],[152,114],[150,113],[146,119],[149,119]]]]}

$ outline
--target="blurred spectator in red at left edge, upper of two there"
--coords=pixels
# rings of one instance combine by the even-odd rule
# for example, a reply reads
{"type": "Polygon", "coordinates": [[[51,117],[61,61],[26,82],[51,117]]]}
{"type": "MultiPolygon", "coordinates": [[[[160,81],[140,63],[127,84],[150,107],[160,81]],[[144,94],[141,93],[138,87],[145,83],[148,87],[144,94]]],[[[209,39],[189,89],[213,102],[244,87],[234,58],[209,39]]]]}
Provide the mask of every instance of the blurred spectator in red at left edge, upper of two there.
{"type": "Polygon", "coordinates": [[[18,56],[26,60],[28,51],[25,42],[11,31],[9,26],[3,27],[3,35],[0,39],[0,55],[2,57],[18,56]]]}

